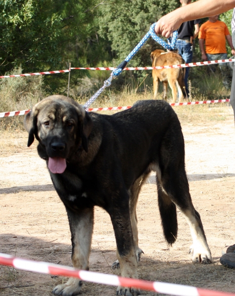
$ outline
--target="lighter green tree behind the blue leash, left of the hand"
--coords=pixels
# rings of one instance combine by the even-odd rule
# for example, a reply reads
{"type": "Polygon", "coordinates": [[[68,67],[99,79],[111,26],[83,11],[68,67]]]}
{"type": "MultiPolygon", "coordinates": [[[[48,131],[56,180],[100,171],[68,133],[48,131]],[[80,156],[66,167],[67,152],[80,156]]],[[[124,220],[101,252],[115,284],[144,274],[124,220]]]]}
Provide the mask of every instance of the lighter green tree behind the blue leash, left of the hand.
{"type": "MultiPolygon", "coordinates": [[[[117,62],[123,60],[157,19],[179,7],[175,0],[110,0],[100,6],[99,35],[110,42],[117,62]]],[[[150,64],[150,52],[159,48],[153,40],[137,54],[131,65],[150,64]]]]}

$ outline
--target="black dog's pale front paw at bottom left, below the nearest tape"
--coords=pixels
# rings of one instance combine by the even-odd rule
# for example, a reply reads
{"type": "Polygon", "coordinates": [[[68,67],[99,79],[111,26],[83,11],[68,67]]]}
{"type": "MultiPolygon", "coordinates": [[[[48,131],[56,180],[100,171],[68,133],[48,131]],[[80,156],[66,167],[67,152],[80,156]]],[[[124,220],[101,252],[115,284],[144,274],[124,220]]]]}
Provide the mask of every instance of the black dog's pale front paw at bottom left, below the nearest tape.
{"type": "Polygon", "coordinates": [[[82,281],[70,278],[66,284],[56,286],[52,293],[54,295],[75,296],[78,295],[82,286],[82,281]]]}

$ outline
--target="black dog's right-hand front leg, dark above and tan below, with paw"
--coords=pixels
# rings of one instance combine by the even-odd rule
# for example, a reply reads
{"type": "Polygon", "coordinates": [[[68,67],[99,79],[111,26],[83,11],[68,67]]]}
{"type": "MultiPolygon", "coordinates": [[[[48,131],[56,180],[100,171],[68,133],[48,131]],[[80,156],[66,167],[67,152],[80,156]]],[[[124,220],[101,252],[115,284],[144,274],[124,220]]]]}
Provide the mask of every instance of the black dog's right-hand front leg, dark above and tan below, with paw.
{"type": "MultiPolygon", "coordinates": [[[[126,200],[126,204],[123,200],[121,202],[119,201],[118,206],[114,207],[114,211],[110,213],[110,216],[117,242],[117,258],[120,264],[121,276],[137,279],[137,259],[131,229],[128,199],[126,200]]],[[[123,287],[118,287],[117,289],[118,296],[133,296],[139,294],[139,289],[123,287]]]]}

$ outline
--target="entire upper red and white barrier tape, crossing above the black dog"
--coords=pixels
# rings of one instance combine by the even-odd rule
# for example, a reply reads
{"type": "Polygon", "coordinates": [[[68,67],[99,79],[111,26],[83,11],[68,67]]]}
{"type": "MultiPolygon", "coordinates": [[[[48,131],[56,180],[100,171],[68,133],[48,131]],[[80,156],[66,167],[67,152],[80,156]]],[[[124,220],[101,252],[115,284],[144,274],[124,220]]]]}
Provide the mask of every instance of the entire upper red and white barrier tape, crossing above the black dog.
{"type": "MultiPolygon", "coordinates": [[[[226,60],[216,60],[216,61],[207,61],[207,62],[196,62],[189,64],[181,64],[181,65],[170,65],[170,66],[157,66],[157,67],[128,67],[123,70],[161,70],[161,69],[171,69],[171,68],[187,68],[187,67],[197,67],[211,64],[221,64],[221,63],[231,63],[235,62],[235,59],[226,59],[226,60]]],[[[71,70],[115,70],[117,68],[114,67],[96,67],[96,68],[70,68],[71,70]]],[[[46,71],[46,72],[37,72],[37,73],[27,73],[27,74],[16,74],[16,75],[5,75],[0,76],[0,78],[10,78],[10,77],[21,77],[21,76],[35,76],[35,75],[46,75],[46,74],[58,74],[58,73],[66,73],[70,72],[70,70],[58,70],[58,71],[46,71]]]]}

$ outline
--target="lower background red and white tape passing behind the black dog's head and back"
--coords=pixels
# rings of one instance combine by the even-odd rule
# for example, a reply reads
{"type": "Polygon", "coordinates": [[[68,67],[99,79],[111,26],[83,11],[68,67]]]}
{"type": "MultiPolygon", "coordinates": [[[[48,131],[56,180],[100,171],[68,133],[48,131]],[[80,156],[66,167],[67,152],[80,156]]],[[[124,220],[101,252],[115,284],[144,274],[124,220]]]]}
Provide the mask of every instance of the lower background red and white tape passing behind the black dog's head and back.
{"type": "MultiPolygon", "coordinates": [[[[211,101],[197,101],[197,102],[184,102],[184,103],[169,103],[170,106],[186,106],[186,105],[201,105],[201,104],[211,104],[211,103],[226,103],[230,102],[230,99],[224,100],[211,100],[211,101]]],[[[125,107],[104,107],[104,108],[89,108],[88,111],[116,111],[116,110],[126,110],[130,109],[132,106],[125,107]]],[[[22,111],[11,111],[11,112],[1,112],[0,117],[10,117],[17,115],[25,115],[29,113],[30,109],[22,111]]]]}

